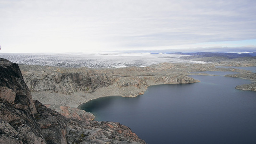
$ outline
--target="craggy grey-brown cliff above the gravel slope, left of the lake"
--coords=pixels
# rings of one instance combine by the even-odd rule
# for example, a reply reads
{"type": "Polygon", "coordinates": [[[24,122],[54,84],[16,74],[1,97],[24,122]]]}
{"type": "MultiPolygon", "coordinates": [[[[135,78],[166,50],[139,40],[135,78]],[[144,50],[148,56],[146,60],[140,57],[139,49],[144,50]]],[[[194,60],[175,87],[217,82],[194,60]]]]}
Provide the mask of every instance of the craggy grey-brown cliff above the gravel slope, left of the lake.
{"type": "MultiPolygon", "coordinates": [[[[33,66],[30,66],[33,67],[33,66]]],[[[99,87],[112,84],[109,75],[92,69],[61,70],[56,67],[34,66],[29,72],[23,72],[24,81],[33,92],[49,91],[71,94],[82,91],[92,93],[99,87]]]]}

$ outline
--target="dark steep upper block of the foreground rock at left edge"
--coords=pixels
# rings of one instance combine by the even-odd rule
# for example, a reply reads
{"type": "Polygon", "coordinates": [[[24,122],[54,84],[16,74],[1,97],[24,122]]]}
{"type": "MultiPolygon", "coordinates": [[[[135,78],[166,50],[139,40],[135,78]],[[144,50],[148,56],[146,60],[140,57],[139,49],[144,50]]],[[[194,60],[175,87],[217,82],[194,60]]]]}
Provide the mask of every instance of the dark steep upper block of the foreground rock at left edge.
{"type": "Polygon", "coordinates": [[[36,113],[31,93],[24,83],[19,66],[2,58],[0,65],[0,97],[15,104],[16,108],[27,108],[36,113]]]}

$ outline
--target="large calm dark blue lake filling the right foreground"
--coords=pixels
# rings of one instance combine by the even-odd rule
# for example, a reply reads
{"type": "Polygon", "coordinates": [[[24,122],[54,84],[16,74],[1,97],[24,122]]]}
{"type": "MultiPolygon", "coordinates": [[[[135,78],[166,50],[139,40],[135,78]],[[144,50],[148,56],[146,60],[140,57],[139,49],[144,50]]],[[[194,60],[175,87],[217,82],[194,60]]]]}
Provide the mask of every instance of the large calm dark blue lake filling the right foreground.
{"type": "Polygon", "coordinates": [[[194,84],[150,86],[135,98],[110,96],[85,103],[96,120],[127,125],[148,144],[256,144],[256,92],[248,80],[192,76],[194,84]]]}

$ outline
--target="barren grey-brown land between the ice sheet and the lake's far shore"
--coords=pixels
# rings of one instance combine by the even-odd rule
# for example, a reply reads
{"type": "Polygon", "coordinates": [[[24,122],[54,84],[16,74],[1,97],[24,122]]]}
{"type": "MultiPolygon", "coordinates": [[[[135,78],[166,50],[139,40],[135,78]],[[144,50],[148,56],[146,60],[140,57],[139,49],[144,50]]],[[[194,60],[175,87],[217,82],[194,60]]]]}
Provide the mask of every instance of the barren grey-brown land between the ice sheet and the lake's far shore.
{"type": "MultiPolygon", "coordinates": [[[[200,71],[239,72],[227,76],[256,81],[254,72],[235,68],[216,68],[216,66],[256,66],[256,59],[255,57],[238,58],[205,64],[161,63],[127,68],[93,69],[36,65],[20,65],[20,68],[25,83],[32,91],[33,99],[38,99],[58,111],[60,106],[77,108],[80,104],[103,96],[138,96],[150,85],[199,82],[189,77],[190,72],[198,72],[198,74],[202,74],[200,71]]],[[[255,83],[237,88],[255,90],[255,83]]]]}

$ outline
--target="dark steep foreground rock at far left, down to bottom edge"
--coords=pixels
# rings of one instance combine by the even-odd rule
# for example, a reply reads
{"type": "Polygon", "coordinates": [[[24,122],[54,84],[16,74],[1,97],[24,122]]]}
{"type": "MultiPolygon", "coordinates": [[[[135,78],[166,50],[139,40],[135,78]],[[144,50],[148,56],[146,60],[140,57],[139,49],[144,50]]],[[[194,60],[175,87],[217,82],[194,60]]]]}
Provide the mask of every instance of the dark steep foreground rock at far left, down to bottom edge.
{"type": "Polygon", "coordinates": [[[1,58],[0,91],[0,142],[45,144],[41,129],[33,118],[37,110],[19,66],[1,58]]]}

